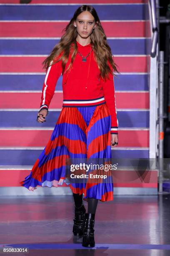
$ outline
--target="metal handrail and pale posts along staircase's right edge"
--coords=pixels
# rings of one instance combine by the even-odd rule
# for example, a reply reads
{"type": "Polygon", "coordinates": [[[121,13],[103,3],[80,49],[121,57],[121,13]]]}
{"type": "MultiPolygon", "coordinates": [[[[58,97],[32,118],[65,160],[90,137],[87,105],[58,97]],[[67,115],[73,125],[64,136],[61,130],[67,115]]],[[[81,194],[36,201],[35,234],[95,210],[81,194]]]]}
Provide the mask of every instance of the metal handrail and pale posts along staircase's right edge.
{"type": "Polygon", "coordinates": [[[169,19],[161,20],[157,7],[159,0],[150,0],[152,20],[152,49],[150,53],[150,158],[158,159],[158,191],[163,194],[164,173],[164,51],[159,49],[159,23],[168,23],[169,19]],[[157,5],[156,5],[157,4],[157,5]],[[159,23],[157,24],[157,19],[159,23]]]}

